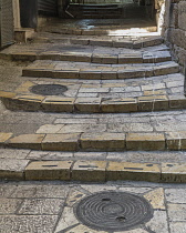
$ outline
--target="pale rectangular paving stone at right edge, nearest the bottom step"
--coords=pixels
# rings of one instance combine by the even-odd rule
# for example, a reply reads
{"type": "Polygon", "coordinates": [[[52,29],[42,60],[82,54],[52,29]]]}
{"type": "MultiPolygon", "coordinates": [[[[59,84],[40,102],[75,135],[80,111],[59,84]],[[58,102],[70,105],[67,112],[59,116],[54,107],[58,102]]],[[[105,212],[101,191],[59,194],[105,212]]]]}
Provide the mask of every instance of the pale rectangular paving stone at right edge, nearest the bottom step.
{"type": "Polygon", "coordinates": [[[184,189],[165,189],[165,197],[170,203],[185,203],[186,195],[184,189]]]}

